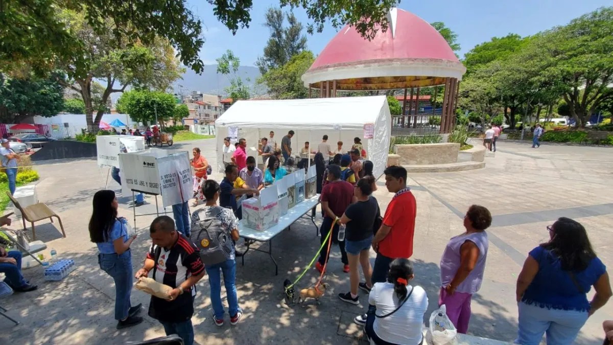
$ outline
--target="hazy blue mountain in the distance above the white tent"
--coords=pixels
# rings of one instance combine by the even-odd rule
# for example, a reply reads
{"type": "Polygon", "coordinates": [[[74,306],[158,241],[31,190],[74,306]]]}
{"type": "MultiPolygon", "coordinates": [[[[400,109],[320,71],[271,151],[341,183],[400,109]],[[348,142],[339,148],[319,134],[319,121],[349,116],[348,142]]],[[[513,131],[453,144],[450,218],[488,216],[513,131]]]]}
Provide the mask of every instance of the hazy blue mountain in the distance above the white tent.
{"type": "MultiPolygon", "coordinates": [[[[243,79],[243,82],[249,85],[252,91],[255,90],[252,92],[254,95],[261,95],[266,92],[265,90],[262,91],[264,88],[262,88],[261,85],[256,86],[256,80],[260,76],[260,71],[257,67],[240,66],[237,75],[243,79]],[[249,79],[249,81],[246,81],[247,79],[249,79]]],[[[200,75],[188,68],[187,71],[183,73],[183,79],[179,79],[173,83],[173,93],[188,95],[191,91],[200,91],[201,93],[208,93],[211,95],[226,96],[227,93],[224,91],[224,88],[230,86],[228,77],[231,76],[231,74],[227,76],[218,74],[216,64],[205,65],[204,71],[202,71],[200,75]]]]}

